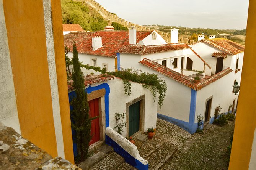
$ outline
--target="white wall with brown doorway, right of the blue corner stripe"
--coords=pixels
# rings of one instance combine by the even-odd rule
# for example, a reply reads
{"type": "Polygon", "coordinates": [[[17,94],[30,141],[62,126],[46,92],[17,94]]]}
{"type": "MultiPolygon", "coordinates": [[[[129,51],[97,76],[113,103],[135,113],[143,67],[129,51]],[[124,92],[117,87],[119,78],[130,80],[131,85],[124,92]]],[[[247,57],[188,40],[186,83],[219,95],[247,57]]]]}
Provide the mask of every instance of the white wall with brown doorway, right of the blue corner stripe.
{"type": "MultiPolygon", "coordinates": [[[[222,107],[221,113],[228,112],[228,107],[230,104],[233,104],[233,100],[235,101],[235,108],[237,104],[237,95],[232,93],[232,85],[234,84],[234,75],[235,72],[231,72],[224,77],[218,79],[217,81],[211,83],[210,85],[202,88],[197,91],[196,98],[196,117],[197,115],[204,116],[206,101],[212,96],[212,107],[210,111],[210,116],[214,117],[214,111],[218,104],[222,107]]],[[[240,80],[239,80],[240,84],[240,80]]],[[[195,123],[197,119],[195,119],[195,123]]]]}

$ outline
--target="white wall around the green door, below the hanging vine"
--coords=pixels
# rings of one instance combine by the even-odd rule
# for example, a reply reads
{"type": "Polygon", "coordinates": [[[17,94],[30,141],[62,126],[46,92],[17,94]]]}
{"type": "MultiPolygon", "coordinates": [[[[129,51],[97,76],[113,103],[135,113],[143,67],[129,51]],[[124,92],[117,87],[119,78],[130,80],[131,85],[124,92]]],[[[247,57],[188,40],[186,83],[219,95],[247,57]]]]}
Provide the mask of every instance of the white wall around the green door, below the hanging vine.
{"type": "MultiPolygon", "coordinates": [[[[132,84],[131,95],[124,94],[124,83],[121,79],[115,78],[102,83],[108,83],[110,87],[109,94],[109,127],[114,128],[116,126],[115,113],[126,112],[126,103],[138,98],[141,95],[145,95],[145,126],[144,130],[148,128],[156,128],[157,123],[157,99],[153,101],[153,95],[147,88],[143,88],[142,84],[130,82],[132,84]]],[[[102,83],[98,83],[92,86],[98,86],[102,83]]],[[[124,119],[125,121],[126,119],[124,119]]],[[[125,135],[125,131],[122,135],[125,135]]]]}

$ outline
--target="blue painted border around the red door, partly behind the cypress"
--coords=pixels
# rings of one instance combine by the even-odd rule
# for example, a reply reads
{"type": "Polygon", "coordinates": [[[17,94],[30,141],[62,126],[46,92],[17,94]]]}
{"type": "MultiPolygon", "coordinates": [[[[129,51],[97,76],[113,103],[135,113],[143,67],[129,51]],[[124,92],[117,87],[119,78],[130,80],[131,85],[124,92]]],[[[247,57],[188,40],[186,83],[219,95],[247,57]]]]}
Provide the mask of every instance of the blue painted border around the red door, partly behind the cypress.
{"type": "MultiPolygon", "coordinates": [[[[106,93],[105,93],[105,119],[106,119],[106,127],[109,126],[109,93],[110,93],[110,88],[109,85],[107,83],[103,83],[101,85],[98,86],[89,86],[88,88],[85,89],[85,91],[87,91],[87,94],[90,94],[92,91],[95,90],[100,90],[100,89],[105,89],[106,93]]],[[[69,103],[72,101],[73,98],[75,98],[77,95],[75,94],[75,91],[72,91],[70,93],[68,93],[68,99],[69,99],[69,103]]],[[[73,106],[69,105],[70,111],[73,110],[73,106]]],[[[71,121],[73,123],[75,123],[71,117],[71,121]]],[[[105,127],[105,128],[106,128],[105,127]]],[[[73,151],[74,151],[74,157],[77,157],[77,143],[76,143],[76,138],[75,138],[75,130],[73,130],[73,128],[71,128],[72,131],[72,139],[73,139],[73,151]]]]}

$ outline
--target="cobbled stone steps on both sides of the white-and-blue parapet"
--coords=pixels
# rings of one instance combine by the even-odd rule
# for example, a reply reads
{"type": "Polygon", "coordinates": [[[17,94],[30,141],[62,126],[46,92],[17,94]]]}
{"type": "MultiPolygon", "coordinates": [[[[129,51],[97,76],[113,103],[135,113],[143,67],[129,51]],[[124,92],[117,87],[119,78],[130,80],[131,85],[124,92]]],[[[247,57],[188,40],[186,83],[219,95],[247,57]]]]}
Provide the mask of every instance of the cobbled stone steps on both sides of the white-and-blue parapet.
{"type": "MultiPolygon", "coordinates": [[[[142,134],[144,135],[144,134],[142,134]]],[[[146,136],[146,135],[145,135],[146,136]]],[[[139,136],[135,140],[140,156],[147,160],[150,170],[159,169],[178,150],[176,146],[158,138],[147,140],[145,136],[139,136]]],[[[83,170],[135,170],[127,164],[124,158],[113,151],[113,148],[103,144],[95,151],[95,154],[83,162],[80,166],[83,170]]]]}

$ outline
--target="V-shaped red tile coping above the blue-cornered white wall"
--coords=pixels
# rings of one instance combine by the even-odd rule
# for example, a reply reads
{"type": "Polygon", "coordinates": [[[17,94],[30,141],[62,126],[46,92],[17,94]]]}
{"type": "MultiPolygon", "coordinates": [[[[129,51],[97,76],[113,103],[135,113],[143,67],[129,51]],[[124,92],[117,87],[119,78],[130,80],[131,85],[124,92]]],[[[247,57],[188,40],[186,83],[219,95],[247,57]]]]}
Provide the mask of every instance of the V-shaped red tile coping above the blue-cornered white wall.
{"type": "Polygon", "coordinates": [[[233,71],[232,69],[227,68],[215,75],[212,75],[208,79],[204,79],[204,80],[201,80],[201,82],[199,83],[195,83],[193,79],[191,79],[190,77],[183,75],[181,73],[178,73],[176,71],[173,71],[172,69],[162,66],[161,64],[155,63],[154,61],[151,61],[149,59],[144,58],[144,60],[140,61],[140,64],[152,70],[155,70],[165,75],[166,77],[169,77],[170,79],[173,79],[176,82],[186,85],[187,87],[192,88],[196,91],[202,89],[203,87],[209,85],[210,83],[215,82],[216,80],[220,79],[224,75],[227,75],[228,73],[233,71]]]}

